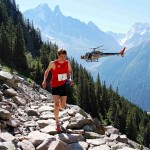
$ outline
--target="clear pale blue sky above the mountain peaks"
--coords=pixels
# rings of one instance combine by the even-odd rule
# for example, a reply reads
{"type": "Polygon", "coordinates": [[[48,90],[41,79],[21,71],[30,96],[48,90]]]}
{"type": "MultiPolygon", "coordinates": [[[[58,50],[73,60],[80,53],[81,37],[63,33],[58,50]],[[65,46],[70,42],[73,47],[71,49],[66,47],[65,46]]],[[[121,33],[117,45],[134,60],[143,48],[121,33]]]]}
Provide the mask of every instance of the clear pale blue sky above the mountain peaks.
{"type": "Polygon", "coordinates": [[[135,22],[150,24],[150,0],[16,0],[21,12],[47,3],[65,16],[92,21],[102,31],[126,33],[135,22]]]}

